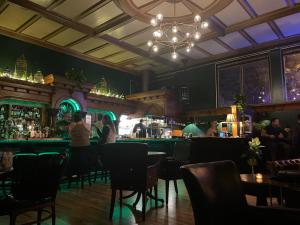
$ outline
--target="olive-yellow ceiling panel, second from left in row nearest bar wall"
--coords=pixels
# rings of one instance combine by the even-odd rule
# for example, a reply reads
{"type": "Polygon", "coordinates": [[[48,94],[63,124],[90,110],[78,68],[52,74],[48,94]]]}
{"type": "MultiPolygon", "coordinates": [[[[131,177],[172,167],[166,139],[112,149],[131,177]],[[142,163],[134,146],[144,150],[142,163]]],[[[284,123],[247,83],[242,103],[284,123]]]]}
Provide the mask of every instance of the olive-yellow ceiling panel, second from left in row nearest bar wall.
{"type": "Polygon", "coordinates": [[[36,38],[43,38],[60,27],[62,27],[61,24],[42,17],[27,27],[22,33],[36,38]]]}

